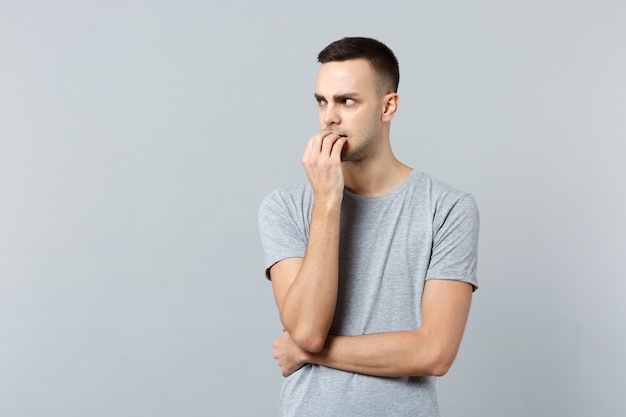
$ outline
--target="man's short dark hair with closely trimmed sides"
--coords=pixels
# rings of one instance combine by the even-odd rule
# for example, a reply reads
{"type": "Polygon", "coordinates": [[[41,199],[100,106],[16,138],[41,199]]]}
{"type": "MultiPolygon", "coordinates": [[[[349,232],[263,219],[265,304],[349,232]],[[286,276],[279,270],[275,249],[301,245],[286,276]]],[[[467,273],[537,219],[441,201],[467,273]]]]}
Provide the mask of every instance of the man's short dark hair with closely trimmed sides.
{"type": "Polygon", "coordinates": [[[398,92],[400,68],[393,51],[384,43],[372,38],[347,37],[328,45],[317,55],[325,64],[349,59],[366,59],[380,77],[379,88],[388,93],[398,92]]]}

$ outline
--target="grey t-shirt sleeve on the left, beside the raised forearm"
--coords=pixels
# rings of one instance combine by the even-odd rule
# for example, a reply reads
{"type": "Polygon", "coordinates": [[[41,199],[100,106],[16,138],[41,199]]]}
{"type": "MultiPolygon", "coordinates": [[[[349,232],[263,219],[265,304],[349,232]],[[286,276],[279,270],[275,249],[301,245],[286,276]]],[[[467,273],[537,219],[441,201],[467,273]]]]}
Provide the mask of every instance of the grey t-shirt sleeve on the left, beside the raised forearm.
{"type": "Polygon", "coordinates": [[[302,217],[302,210],[298,210],[293,196],[286,190],[275,190],[261,202],[259,231],[267,279],[271,279],[269,270],[275,263],[304,257],[307,235],[302,217]]]}

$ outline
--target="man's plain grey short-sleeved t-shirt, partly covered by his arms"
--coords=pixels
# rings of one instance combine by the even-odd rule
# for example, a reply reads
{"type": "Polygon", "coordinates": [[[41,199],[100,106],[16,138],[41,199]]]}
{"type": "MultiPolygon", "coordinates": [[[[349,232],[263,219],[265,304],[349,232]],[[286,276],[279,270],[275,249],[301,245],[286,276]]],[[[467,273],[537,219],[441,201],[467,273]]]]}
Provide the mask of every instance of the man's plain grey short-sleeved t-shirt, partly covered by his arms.
{"type": "MultiPolygon", "coordinates": [[[[313,208],[308,183],[275,190],[261,203],[266,275],[276,262],[304,257],[313,208]]],[[[344,191],[339,292],[332,335],[421,326],[428,279],[477,288],[479,217],[471,195],[413,171],[380,197],[344,191]]],[[[281,416],[439,415],[434,377],[382,378],[305,365],[284,381],[281,416]]]]}

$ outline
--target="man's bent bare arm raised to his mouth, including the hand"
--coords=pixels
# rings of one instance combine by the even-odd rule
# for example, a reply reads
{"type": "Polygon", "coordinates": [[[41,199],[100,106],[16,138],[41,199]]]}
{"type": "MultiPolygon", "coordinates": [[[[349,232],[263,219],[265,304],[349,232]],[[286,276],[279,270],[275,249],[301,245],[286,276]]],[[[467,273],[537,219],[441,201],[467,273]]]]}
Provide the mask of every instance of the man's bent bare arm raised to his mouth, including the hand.
{"type": "Polygon", "coordinates": [[[309,140],[302,164],[314,203],[306,253],[304,258],[285,259],[270,269],[283,327],[307,352],[324,347],[337,303],[344,143],[345,138],[330,132],[309,140]]]}

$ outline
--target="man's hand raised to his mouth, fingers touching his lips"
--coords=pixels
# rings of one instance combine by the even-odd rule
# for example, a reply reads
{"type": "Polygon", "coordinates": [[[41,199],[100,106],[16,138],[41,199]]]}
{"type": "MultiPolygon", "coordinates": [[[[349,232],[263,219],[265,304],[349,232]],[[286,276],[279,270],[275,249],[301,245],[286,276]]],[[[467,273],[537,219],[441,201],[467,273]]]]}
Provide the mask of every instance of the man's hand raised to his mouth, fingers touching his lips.
{"type": "Polygon", "coordinates": [[[309,139],[302,165],[319,199],[343,197],[341,150],[346,138],[331,131],[320,132],[309,139]]]}

